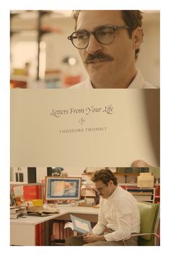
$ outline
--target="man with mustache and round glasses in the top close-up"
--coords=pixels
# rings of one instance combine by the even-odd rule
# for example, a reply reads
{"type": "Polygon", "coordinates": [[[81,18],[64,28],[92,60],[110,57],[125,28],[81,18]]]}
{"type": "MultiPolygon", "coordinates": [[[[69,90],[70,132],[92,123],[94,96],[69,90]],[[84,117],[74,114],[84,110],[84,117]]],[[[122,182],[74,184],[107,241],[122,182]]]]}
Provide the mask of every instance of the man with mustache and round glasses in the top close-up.
{"type": "Polygon", "coordinates": [[[140,11],[81,10],[73,11],[73,18],[76,31],[68,40],[89,74],[73,88],[155,88],[135,68],[143,41],[140,11]]]}

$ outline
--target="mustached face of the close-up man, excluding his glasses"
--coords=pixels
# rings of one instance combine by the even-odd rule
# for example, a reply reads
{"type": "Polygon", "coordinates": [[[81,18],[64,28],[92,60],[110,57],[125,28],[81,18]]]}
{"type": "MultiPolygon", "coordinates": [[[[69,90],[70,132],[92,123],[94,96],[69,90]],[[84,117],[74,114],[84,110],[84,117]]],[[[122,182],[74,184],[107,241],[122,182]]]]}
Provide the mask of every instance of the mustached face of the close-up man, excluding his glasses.
{"type": "MultiPolygon", "coordinates": [[[[104,25],[125,26],[122,12],[81,11],[76,30],[93,32],[104,25]]],[[[135,46],[126,29],[116,30],[115,39],[109,45],[98,43],[94,35],[90,35],[89,46],[79,50],[79,54],[94,88],[127,88],[124,80],[130,84],[135,76],[135,46]],[[89,54],[99,53],[102,53],[101,59],[87,61],[89,54]]]]}

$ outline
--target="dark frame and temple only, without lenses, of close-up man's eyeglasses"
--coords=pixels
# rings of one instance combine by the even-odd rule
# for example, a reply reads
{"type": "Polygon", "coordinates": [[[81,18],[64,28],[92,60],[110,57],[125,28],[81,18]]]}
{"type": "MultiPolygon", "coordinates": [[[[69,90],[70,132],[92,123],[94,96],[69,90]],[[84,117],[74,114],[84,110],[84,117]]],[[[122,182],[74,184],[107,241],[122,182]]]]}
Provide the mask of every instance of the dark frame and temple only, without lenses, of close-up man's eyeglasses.
{"type": "MultiPolygon", "coordinates": [[[[105,46],[109,45],[110,43],[113,42],[113,40],[115,40],[115,35],[112,39],[111,42],[109,43],[101,43],[99,38],[97,38],[97,31],[101,30],[101,29],[104,29],[104,28],[111,28],[113,31],[114,31],[114,34],[116,33],[116,30],[121,30],[121,29],[126,29],[126,30],[132,30],[133,28],[132,27],[128,27],[128,26],[113,26],[113,25],[105,25],[105,26],[102,26],[102,27],[97,27],[93,32],[89,32],[87,30],[80,30],[80,31],[84,31],[86,32],[86,35],[90,38],[90,35],[94,35],[94,38],[97,40],[98,43],[100,44],[103,44],[105,46]]],[[[73,39],[76,38],[76,37],[73,37],[73,34],[77,33],[79,30],[76,30],[74,31],[71,35],[68,36],[68,40],[71,40],[71,43],[73,43],[73,39]]],[[[83,48],[79,48],[77,46],[75,46],[75,44],[73,43],[73,46],[78,48],[79,50],[83,50],[85,48],[87,48],[89,46],[89,40],[88,40],[88,43],[86,45],[86,47],[83,47],[83,48]]]]}

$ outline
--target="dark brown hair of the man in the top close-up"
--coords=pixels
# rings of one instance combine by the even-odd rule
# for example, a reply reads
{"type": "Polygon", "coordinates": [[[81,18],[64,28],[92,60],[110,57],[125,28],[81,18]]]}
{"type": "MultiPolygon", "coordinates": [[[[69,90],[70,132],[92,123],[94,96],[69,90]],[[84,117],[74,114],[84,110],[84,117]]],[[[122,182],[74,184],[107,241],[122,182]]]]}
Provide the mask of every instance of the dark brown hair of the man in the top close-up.
{"type": "MultiPolygon", "coordinates": [[[[137,27],[142,27],[142,19],[143,19],[143,12],[139,10],[122,10],[122,20],[124,20],[125,24],[128,27],[131,27],[128,30],[129,37],[132,38],[133,30],[137,27]]],[[[72,17],[74,20],[77,20],[79,17],[80,10],[75,10],[72,12],[72,17]]],[[[76,27],[75,27],[76,28],[76,27]]],[[[143,30],[142,30],[142,37],[143,37],[143,30]]],[[[135,50],[135,59],[138,58],[139,48],[135,50]]]]}

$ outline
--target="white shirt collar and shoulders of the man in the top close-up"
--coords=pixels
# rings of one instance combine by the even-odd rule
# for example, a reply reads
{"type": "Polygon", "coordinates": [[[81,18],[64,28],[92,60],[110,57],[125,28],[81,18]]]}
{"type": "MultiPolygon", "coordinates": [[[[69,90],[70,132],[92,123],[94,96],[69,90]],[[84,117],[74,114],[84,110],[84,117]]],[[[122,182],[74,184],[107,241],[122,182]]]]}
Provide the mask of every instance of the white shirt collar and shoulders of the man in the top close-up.
{"type": "MultiPolygon", "coordinates": [[[[79,82],[79,84],[71,86],[73,89],[94,89],[91,85],[91,80],[89,77],[86,81],[79,82]]],[[[128,89],[155,89],[156,87],[151,85],[149,82],[146,82],[143,78],[143,75],[141,74],[140,70],[137,69],[137,74],[133,80],[133,82],[130,83],[128,86],[128,89]]]]}

